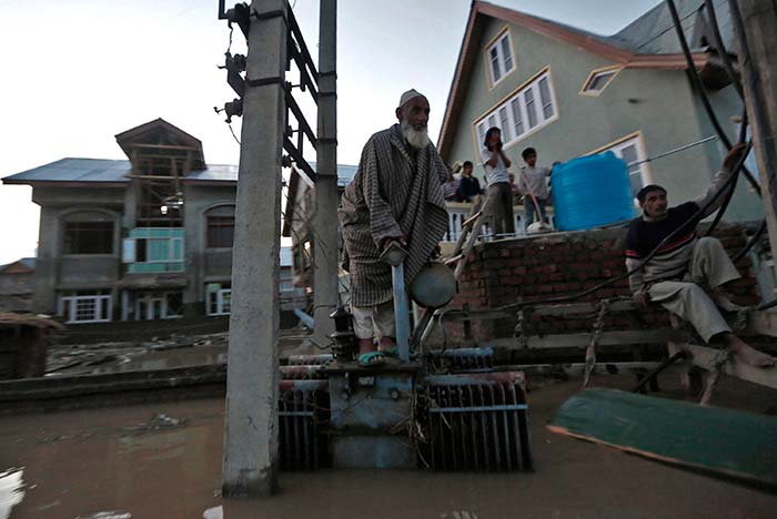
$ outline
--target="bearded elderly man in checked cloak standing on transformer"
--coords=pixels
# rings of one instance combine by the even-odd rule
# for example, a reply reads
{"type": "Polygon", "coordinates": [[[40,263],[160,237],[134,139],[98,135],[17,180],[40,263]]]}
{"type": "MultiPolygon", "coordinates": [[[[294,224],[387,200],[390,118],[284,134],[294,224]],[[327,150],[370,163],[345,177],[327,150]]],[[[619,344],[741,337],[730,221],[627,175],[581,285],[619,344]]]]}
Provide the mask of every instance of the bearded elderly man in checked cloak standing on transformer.
{"type": "Polygon", "coordinates": [[[447,230],[442,184],[447,169],[428,139],[428,101],[415,90],[402,94],[398,124],[375,133],[362,151],[353,181],[337,211],[351,273],[351,307],[359,338],[359,362],[383,364],[395,345],[391,266],[383,251],[398,242],[407,252],[410,284],[447,230]],[[380,332],[380,350],[373,342],[380,332]]]}

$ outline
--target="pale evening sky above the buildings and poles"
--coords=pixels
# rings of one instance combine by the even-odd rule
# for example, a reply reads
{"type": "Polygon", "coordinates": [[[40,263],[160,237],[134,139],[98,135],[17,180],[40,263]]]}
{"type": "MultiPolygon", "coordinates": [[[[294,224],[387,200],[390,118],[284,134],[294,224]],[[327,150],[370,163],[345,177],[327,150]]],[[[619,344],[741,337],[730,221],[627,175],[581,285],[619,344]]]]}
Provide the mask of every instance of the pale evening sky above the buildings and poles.
{"type": "MultiPolygon", "coordinates": [[[[601,34],[658,2],[494,0],[601,34]]],[[[291,3],[315,54],[319,0],[291,3]]],[[[216,7],[218,0],[0,0],[0,177],[68,156],[125,159],[114,135],[157,118],[200,139],[209,163],[236,164],[238,143],[213,111],[234,98],[216,68],[229,43],[216,7]]],[[[470,1],[340,0],[337,10],[337,162],[357,163],[366,139],[393,124],[408,88],[427,96],[436,142],[470,1]]],[[[232,52],[245,52],[239,30],[232,52]]],[[[233,128],[240,135],[240,119],[233,128]]],[[[0,185],[0,264],[34,255],[39,211],[31,191],[0,185]]]]}

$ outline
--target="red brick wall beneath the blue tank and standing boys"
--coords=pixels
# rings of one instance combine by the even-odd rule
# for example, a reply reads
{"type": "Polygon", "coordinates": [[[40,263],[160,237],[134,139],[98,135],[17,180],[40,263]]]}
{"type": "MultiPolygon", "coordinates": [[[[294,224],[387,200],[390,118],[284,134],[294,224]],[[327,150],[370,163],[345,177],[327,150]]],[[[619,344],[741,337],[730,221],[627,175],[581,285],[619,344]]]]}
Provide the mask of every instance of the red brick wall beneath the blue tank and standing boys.
{"type": "MultiPolygon", "coordinates": [[[[703,227],[704,228],[704,227],[703,227]]],[[[460,292],[452,308],[494,308],[523,301],[571,295],[587,289],[626,272],[624,261],[626,230],[581,231],[557,235],[537,235],[527,238],[481,243],[470,253],[466,268],[460,278],[460,292]]],[[[746,243],[745,227],[719,226],[714,233],[729,255],[746,243]]],[[[729,285],[736,302],[743,305],[760,301],[750,261],[737,264],[743,278],[729,285]]],[[[598,301],[630,296],[628,281],[620,279],[605,288],[574,302],[598,301]]],[[[569,302],[569,303],[574,303],[569,302]]],[[[508,337],[517,323],[516,317],[498,320],[446,324],[445,329],[455,343],[483,343],[496,337],[508,337]]],[[[532,328],[543,333],[589,332],[593,319],[537,316],[532,328]]],[[[657,305],[630,315],[615,315],[605,320],[606,329],[648,328],[668,326],[668,314],[657,305]]]]}

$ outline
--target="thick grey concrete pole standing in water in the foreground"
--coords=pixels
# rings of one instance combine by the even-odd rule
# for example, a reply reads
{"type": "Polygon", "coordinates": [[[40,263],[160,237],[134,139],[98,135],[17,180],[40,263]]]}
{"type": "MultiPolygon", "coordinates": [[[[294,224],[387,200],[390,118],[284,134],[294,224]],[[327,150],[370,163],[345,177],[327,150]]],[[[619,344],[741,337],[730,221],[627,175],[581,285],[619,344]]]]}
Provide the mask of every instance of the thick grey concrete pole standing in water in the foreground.
{"type": "Polygon", "coordinates": [[[243,98],[226,370],[224,497],[278,489],[279,251],[287,28],[283,0],[253,0],[243,98]]]}

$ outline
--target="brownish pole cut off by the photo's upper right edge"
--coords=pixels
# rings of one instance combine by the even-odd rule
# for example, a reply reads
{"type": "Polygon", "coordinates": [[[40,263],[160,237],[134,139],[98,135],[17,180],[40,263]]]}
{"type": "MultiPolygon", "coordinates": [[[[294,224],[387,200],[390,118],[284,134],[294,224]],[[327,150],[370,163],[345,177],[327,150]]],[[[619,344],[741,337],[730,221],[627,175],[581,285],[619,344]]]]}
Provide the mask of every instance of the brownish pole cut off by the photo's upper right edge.
{"type": "Polygon", "coordinates": [[[729,0],[728,4],[739,43],[739,68],[769,243],[773,255],[777,255],[777,6],[769,0],[729,0]]]}

